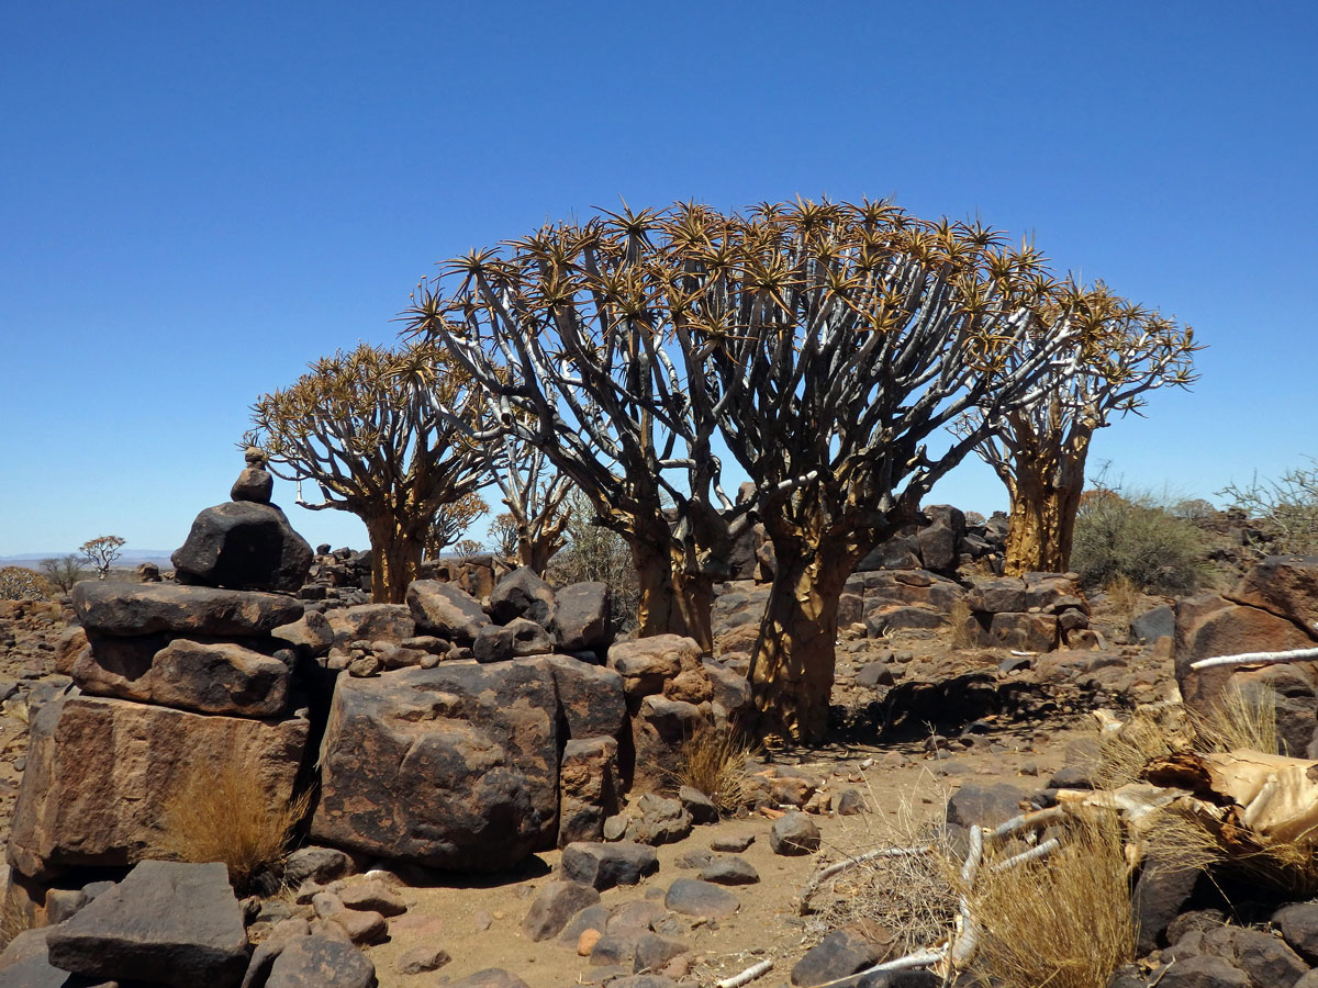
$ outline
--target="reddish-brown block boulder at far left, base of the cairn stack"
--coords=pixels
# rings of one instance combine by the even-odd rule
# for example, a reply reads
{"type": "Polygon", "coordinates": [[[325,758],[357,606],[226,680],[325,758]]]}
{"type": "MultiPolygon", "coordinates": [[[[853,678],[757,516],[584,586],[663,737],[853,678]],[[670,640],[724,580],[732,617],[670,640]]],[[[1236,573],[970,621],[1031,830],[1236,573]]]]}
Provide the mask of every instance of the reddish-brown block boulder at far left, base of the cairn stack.
{"type": "Polygon", "coordinates": [[[8,856],[30,877],[162,856],[162,808],[190,772],[227,765],[287,805],[308,723],[208,717],[99,697],[62,697],[32,721],[8,856]]]}

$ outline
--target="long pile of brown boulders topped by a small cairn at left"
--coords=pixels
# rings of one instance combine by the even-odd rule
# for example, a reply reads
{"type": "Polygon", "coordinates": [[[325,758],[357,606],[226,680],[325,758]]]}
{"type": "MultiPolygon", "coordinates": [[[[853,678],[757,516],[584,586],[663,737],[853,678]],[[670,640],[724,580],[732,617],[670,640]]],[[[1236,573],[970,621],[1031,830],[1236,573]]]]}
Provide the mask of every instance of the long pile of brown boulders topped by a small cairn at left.
{"type": "Polygon", "coordinates": [[[604,839],[627,789],[668,786],[683,742],[750,702],[689,639],[614,643],[604,584],[519,569],[484,605],[418,580],[402,605],[310,610],[312,552],[268,497],[249,461],[174,553],[179,584],[75,588],[70,685],[33,717],[8,844],[30,918],[167,856],[162,809],[198,773],[236,767],[272,813],[315,784],[312,839],[358,858],[496,872],[604,839]]]}

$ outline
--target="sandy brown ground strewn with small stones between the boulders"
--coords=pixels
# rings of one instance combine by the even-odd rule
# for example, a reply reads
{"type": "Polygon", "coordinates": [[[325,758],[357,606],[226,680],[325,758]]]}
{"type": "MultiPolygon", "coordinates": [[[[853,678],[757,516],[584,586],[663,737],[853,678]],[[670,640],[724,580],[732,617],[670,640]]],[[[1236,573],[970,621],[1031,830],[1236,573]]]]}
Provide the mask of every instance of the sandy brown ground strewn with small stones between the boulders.
{"type": "MultiPolygon", "coordinates": [[[[1140,601],[1136,613],[1160,601],[1140,601]]],[[[58,605],[0,603],[0,694],[5,697],[0,707],[0,829],[7,835],[29,710],[46,690],[66,681],[53,673],[53,657],[69,615],[58,605]]],[[[801,917],[796,906],[803,885],[821,863],[909,839],[912,826],[941,818],[948,798],[966,785],[1006,782],[1027,796],[1048,786],[1064,768],[1082,771],[1086,739],[1094,734],[1089,710],[1166,696],[1174,680],[1165,639],[1127,644],[1130,614],[1102,601],[1090,627],[1102,635],[1106,648],[1049,655],[958,648],[949,627],[899,630],[876,638],[847,630],[838,647],[836,739],[820,748],[766,751],[749,767],[751,773],[805,779],[813,793],[797,796],[813,798],[816,808],[836,808],[846,790],[859,794],[863,813],[809,814],[821,833],[817,855],[775,854],[770,830],[776,814],[771,809],[697,826],[685,839],[660,846],[654,875],[639,885],[601,894],[612,917],[605,921],[597,910],[604,933],[617,931],[622,943],[617,964],[604,963],[610,959],[606,950],[584,956],[592,950],[572,926],[565,935],[543,941],[532,939],[525,927],[532,904],[555,881],[561,852],[538,854],[515,873],[480,881],[457,877],[449,884],[434,875],[405,876],[407,884],[395,891],[405,912],[387,921],[385,942],[368,947],[380,984],[444,984],[486,968],[505,968],[531,988],[602,984],[631,971],[629,950],[635,947],[637,930],[645,927],[688,948],[689,964],[681,962],[670,971],[673,976],[712,984],[774,958],[771,977],[776,980],[764,983],[786,980],[791,967],[828,933],[818,917],[801,917]],[[712,843],[741,843],[734,838],[753,840],[735,854],[710,850],[712,843]],[[724,868],[758,877],[728,888],[735,912],[705,918],[666,909],[666,898],[672,905],[672,896],[681,892],[673,892],[673,884],[699,876],[710,855],[724,868]],[[741,859],[749,868],[728,865],[728,858],[741,859]],[[638,917],[643,919],[639,927],[638,917]],[[430,974],[405,974],[419,963],[438,967],[430,974]]],[[[779,794],[788,801],[797,798],[779,794]]],[[[265,918],[272,922],[310,912],[310,904],[299,905],[291,891],[265,905],[265,918]]]]}

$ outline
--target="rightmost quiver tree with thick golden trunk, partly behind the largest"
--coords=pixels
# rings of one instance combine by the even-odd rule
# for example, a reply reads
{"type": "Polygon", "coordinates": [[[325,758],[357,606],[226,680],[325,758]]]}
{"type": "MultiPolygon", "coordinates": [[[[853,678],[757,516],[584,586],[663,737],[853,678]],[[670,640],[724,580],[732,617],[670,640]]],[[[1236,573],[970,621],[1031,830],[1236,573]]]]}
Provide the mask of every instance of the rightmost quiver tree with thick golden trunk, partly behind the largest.
{"type": "MultiPolygon", "coordinates": [[[[1095,429],[1139,414],[1149,391],[1195,381],[1194,332],[1118,298],[1098,283],[1058,286],[1040,314],[1081,325],[1074,369],[1049,370],[1033,400],[996,416],[973,411],[961,435],[988,429],[975,452],[1007,485],[1011,501],[1003,569],[1062,573],[1070,568],[1085,461],[1095,429]]],[[[1027,358],[1016,352],[1012,361],[1027,358]]]]}

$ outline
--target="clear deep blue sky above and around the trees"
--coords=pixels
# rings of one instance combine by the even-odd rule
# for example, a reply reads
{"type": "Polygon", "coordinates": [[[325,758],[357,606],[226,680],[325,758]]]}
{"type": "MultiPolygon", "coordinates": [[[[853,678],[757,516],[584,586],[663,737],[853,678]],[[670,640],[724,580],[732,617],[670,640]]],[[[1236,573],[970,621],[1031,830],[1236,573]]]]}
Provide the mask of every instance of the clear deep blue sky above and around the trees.
{"type": "MultiPolygon", "coordinates": [[[[1280,473],[1318,454],[1314,9],[7,4],[0,555],[177,547],[257,395],[393,340],[435,261],[618,195],[1032,233],[1211,348],[1094,460],[1191,495],[1280,473]]],[[[934,498],[1006,502],[982,466],[934,498]]]]}

